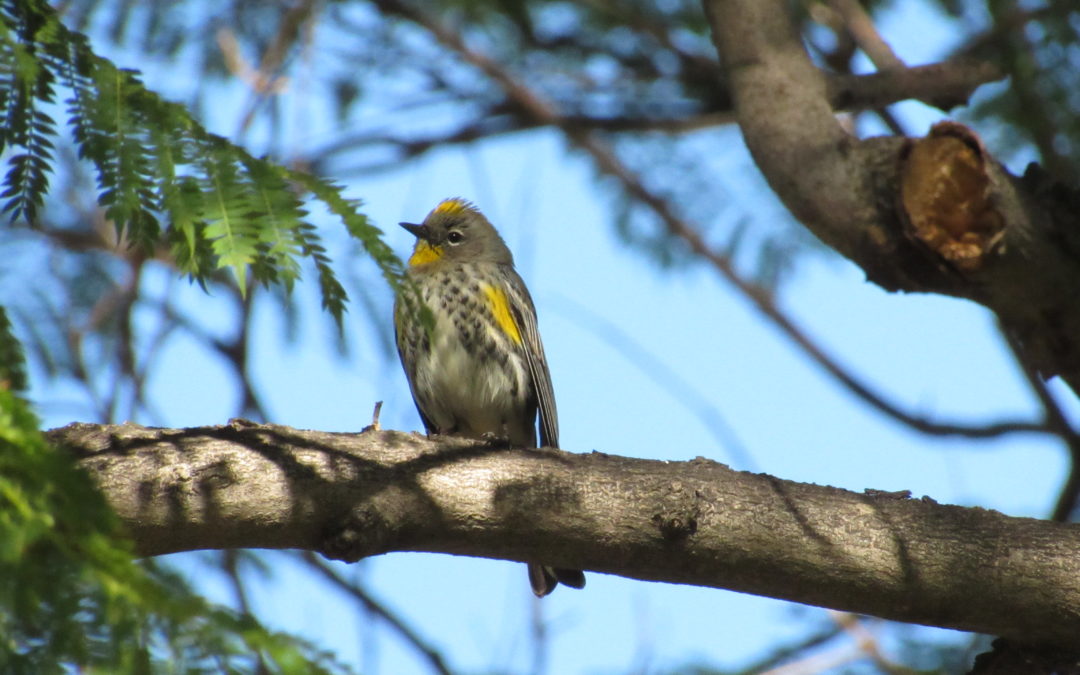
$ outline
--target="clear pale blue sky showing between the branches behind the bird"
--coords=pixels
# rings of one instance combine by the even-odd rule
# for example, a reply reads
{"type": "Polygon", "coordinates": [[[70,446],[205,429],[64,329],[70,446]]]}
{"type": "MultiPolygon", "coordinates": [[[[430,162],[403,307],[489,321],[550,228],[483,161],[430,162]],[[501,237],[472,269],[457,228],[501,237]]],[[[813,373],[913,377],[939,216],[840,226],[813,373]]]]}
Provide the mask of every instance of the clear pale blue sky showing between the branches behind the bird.
{"type": "MultiPolygon", "coordinates": [[[[940,17],[921,11],[890,15],[882,32],[910,63],[932,59],[956,35],[940,17]]],[[[125,62],[122,52],[110,55],[122,65],[143,65],[125,62]]],[[[287,99],[292,114],[310,113],[301,96],[293,96],[287,99]]],[[[221,131],[235,127],[228,112],[219,114],[208,122],[221,131]]],[[[937,119],[917,105],[905,105],[902,114],[914,133],[937,119]]],[[[333,133],[327,122],[297,136],[295,147],[325,141],[333,133]]],[[[718,171],[733,200],[729,217],[762,224],[788,217],[753,170],[737,130],[699,134],[699,143],[721,153],[718,171]]],[[[471,199],[490,217],[536,300],[561,436],[571,451],[661,460],[705,456],[795,481],[854,490],[909,489],[1015,515],[1043,516],[1053,504],[1066,467],[1057,444],[1028,435],[978,443],[932,438],[881,418],[795,351],[710,269],[662,272],[629,251],[613,233],[611,200],[592,167],[568,153],[553,133],[435,151],[384,175],[350,179],[348,186],[402,255],[411,238],[395,224],[422,218],[443,198],[471,199]],[[686,382],[686,391],[706,401],[745,448],[751,465],[658,384],[654,373],[582,321],[582,312],[631,336],[686,382]]],[[[254,377],[271,421],[359,430],[369,422],[375,402],[383,401],[383,427],[418,429],[396,356],[388,355],[378,334],[381,329],[384,337],[389,326],[390,291],[369,261],[350,259],[340,226],[326,220],[321,227],[336,244],[339,265],[354,266],[383,323],[374,326],[354,308],[346,333],[351,357],[345,361],[335,352],[329,322],[310,285],[297,289],[295,343],[283,339],[281,316],[269,303],[259,305],[254,377]]],[[[210,325],[215,318],[222,329],[228,325],[227,302],[172,280],[168,271],[146,283],[161,292],[171,287],[183,307],[210,325]]],[[[784,286],[781,305],[842,364],[908,410],[972,422],[1037,413],[995,336],[993,318],[970,302],[886,294],[849,262],[813,256],[784,286]]],[[[37,375],[37,400],[71,395],[37,375]]],[[[183,338],[163,352],[150,391],[170,426],[221,423],[235,411],[235,392],[220,364],[183,338]]],[[[1055,391],[1071,401],[1056,384],[1055,391]]],[[[1076,408],[1070,404],[1074,415],[1076,408]]],[[[72,421],[77,408],[41,409],[53,427],[72,421]]],[[[393,638],[379,639],[386,637],[383,629],[366,624],[339,594],[283,555],[269,553],[267,559],[273,578],[255,584],[253,600],[271,625],[309,635],[357,670],[422,672],[414,654],[393,638]]],[[[176,556],[176,562],[212,596],[228,600],[229,593],[204,571],[198,554],[176,556]]],[[[534,609],[550,622],[551,673],[648,673],[699,661],[737,666],[828,621],[821,610],[779,600],[599,573],[589,575],[584,591],[561,589],[537,606],[524,566],[497,561],[390,554],[341,569],[363,575],[379,597],[445,650],[451,666],[469,672],[528,672],[534,609]]]]}

